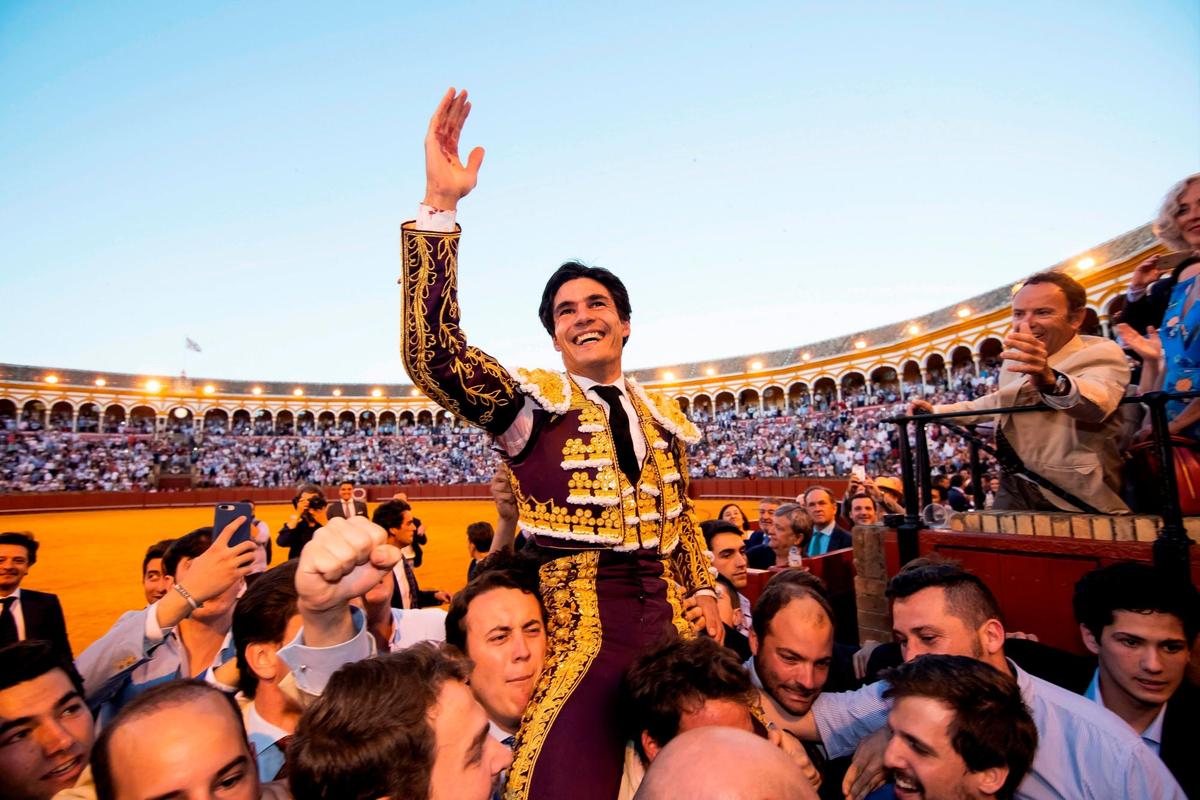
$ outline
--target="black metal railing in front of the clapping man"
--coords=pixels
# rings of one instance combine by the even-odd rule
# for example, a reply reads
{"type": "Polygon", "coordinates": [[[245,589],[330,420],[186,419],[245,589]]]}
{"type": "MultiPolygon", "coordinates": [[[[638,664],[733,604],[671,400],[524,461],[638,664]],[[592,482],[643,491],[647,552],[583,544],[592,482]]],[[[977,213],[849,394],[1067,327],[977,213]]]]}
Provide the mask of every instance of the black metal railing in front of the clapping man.
{"type": "MultiPolygon", "coordinates": [[[[1183,527],[1183,512],[1180,507],[1178,486],[1175,480],[1174,446],[1168,429],[1169,421],[1166,417],[1166,404],[1171,401],[1192,399],[1194,397],[1200,397],[1200,390],[1187,392],[1147,392],[1136,397],[1126,397],[1121,401],[1121,405],[1136,403],[1147,407],[1151,431],[1153,433],[1154,452],[1158,457],[1159,464],[1162,464],[1159,495],[1162,501],[1160,517],[1163,519],[1163,525],[1159,528],[1158,539],[1153,545],[1154,565],[1177,576],[1187,577],[1189,581],[1189,548],[1192,546],[1192,540],[1188,537],[1187,530],[1183,527]]],[[[930,425],[941,425],[943,427],[966,433],[966,431],[961,427],[954,425],[953,422],[948,422],[948,420],[979,416],[995,417],[1002,414],[1031,414],[1036,411],[1064,413],[1051,408],[1045,403],[1038,403],[1037,405],[991,408],[983,411],[944,411],[942,414],[914,415],[905,414],[883,420],[884,422],[892,422],[900,428],[900,467],[901,480],[904,481],[905,513],[904,521],[896,528],[896,537],[900,548],[901,564],[907,564],[918,555],[917,534],[922,528],[920,504],[923,499],[929,500],[932,498],[932,475],[930,474],[929,463],[929,438],[925,428],[930,425]],[[914,441],[917,449],[916,463],[912,452],[913,445],[908,441],[910,425],[914,426],[914,441]]],[[[1032,482],[1058,495],[1070,505],[1079,509],[1081,512],[1102,513],[1062,487],[1056,486],[1045,476],[1038,475],[1024,464],[1007,458],[1004,453],[997,452],[996,447],[982,441],[978,437],[967,434],[967,439],[970,441],[971,483],[976,507],[982,509],[984,505],[983,468],[979,458],[979,451],[984,450],[996,456],[1007,471],[1026,476],[1032,482]]]]}

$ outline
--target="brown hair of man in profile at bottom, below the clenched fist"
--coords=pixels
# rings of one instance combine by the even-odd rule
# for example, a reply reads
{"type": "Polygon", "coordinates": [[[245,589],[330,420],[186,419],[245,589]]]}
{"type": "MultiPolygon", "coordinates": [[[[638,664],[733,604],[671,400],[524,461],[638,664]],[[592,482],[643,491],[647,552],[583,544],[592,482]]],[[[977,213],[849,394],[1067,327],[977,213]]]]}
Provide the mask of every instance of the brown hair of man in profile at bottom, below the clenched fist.
{"type": "Polygon", "coordinates": [[[446,681],[466,684],[469,672],[462,656],[430,642],[343,666],[288,747],[292,796],[428,798],[437,750],[430,710],[446,681]]]}

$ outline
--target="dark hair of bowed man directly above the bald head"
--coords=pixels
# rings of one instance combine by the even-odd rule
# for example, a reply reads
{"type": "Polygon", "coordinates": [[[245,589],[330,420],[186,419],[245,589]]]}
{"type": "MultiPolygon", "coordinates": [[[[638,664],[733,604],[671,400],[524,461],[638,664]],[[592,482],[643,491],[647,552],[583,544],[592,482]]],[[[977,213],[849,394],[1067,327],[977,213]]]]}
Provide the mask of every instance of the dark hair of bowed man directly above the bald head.
{"type": "Polygon", "coordinates": [[[666,745],[679,733],[679,720],[704,700],[731,699],[749,709],[757,703],[750,674],[732,650],[707,637],[673,639],[640,656],[625,673],[620,715],[642,762],[642,732],[666,745]]]}

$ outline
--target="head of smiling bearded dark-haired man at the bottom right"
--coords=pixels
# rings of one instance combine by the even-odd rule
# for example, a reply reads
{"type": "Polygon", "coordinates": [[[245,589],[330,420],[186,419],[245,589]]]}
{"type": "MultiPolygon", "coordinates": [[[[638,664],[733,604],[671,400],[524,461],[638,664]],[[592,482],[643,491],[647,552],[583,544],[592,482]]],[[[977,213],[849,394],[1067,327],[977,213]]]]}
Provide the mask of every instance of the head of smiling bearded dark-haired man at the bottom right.
{"type": "Polygon", "coordinates": [[[922,656],[887,673],[892,783],[870,800],[1008,800],[1038,730],[1016,681],[966,656],[922,656]]]}

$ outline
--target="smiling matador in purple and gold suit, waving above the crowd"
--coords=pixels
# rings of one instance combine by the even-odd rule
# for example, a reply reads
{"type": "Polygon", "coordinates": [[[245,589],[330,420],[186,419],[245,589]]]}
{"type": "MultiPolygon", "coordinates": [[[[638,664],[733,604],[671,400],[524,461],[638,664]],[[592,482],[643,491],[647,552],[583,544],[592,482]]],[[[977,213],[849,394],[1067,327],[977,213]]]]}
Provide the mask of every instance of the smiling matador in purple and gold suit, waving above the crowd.
{"type": "Polygon", "coordinates": [[[505,798],[612,800],[624,738],[622,676],[666,636],[690,634],[695,597],[720,637],[704,540],[688,498],[685,447],[700,433],[668,397],[622,371],[624,284],[568,263],[539,315],[563,372],[506,369],[460,326],[457,203],[484,151],[463,164],[467,92],[446,92],[425,142],[426,197],[402,230],[404,367],[431,399],[487,431],[511,471],[520,524],[544,554],[546,666],[516,736],[505,798]]]}

